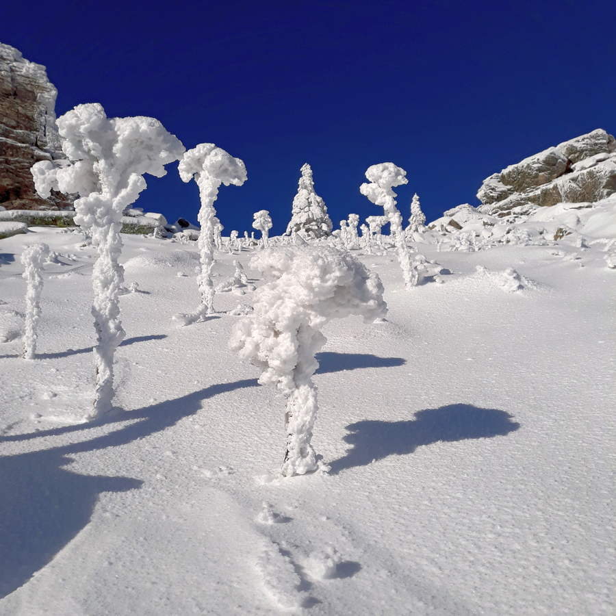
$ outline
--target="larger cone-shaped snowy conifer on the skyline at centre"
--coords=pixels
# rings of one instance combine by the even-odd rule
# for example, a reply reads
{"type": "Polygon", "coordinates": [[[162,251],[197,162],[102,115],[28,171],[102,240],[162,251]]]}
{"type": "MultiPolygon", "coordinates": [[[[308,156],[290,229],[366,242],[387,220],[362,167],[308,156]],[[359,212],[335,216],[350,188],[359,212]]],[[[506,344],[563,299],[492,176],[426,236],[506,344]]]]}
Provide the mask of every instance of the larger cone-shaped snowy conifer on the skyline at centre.
{"type": "Polygon", "coordinates": [[[331,234],[333,225],[324,201],[314,192],[312,169],[306,163],[302,169],[297,194],[293,199],[291,222],[287,235],[299,233],[306,240],[318,240],[331,234]]]}

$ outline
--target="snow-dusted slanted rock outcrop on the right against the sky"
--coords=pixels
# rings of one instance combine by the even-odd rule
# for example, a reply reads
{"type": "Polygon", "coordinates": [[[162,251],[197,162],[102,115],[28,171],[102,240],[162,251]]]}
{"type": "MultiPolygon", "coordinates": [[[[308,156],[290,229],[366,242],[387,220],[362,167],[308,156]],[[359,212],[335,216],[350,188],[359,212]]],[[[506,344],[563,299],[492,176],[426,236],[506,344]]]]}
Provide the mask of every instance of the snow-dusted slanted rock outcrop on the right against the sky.
{"type": "Polygon", "coordinates": [[[526,215],[556,203],[593,203],[616,192],[616,140],[597,129],[483,181],[478,208],[490,216],[526,215]]]}

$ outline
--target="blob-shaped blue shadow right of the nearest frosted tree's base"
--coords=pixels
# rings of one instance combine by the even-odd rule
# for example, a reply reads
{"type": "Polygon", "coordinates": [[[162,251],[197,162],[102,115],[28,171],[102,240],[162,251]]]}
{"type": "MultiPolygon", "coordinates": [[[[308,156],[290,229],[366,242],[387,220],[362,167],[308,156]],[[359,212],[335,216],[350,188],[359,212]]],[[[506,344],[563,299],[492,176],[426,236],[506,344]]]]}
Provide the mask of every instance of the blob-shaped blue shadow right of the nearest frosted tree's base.
{"type": "Polygon", "coordinates": [[[519,428],[513,415],[472,405],[448,405],[415,413],[406,422],[366,420],[346,426],[344,441],[352,446],[346,455],[330,463],[330,474],[366,466],[387,456],[411,454],[422,445],[438,441],[487,439],[504,436],[519,428]]]}

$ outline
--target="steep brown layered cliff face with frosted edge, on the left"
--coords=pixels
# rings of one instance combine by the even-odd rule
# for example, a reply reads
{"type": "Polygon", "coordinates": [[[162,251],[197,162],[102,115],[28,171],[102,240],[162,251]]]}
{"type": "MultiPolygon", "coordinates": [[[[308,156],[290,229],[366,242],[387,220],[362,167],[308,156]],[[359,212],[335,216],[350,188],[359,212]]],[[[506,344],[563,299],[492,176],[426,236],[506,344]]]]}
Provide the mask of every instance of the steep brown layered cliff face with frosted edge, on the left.
{"type": "Polygon", "coordinates": [[[0,205],[6,209],[72,209],[73,199],[34,190],[31,166],[64,158],[55,125],[57,90],[45,67],[0,43],[0,205]]]}

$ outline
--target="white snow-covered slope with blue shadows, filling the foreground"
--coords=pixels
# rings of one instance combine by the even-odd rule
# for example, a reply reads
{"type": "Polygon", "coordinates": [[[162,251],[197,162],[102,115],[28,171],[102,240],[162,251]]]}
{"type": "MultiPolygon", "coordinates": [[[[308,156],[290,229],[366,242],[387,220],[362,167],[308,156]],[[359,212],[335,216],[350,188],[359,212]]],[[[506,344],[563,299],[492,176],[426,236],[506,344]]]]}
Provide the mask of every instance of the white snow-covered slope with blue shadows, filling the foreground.
{"type": "MultiPolygon", "coordinates": [[[[451,273],[409,291],[393,248],[353,251],[387,321],[324,328],[313,445],[331,470],[281,478],[285,401],[227,348],[251,287],[178,327],[196,243],[123,240],[119,409],[85,423],[94,250],[77,229],[0,240],[1,614],[614,613],[606,242],[414,244],[451,273]],[[57,255],[27,361],[36,242],[57,255]]],[[[218,253],[214,285],[234,259],[263,284],[251,255],[218,253]]]]}

